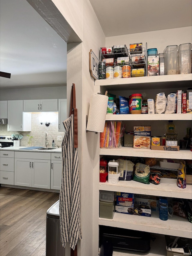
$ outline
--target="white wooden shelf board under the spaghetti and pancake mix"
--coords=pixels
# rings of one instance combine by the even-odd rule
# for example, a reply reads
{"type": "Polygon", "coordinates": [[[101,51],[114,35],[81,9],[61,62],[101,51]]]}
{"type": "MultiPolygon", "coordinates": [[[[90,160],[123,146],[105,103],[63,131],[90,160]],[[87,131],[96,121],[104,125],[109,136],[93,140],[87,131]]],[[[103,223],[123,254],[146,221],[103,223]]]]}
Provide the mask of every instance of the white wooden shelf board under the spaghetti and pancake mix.
{"type": "Polygon", "coordinates": [[[154,158],[173,158],[191,160],[192,152],[190,150],[179,151],[163,151],[151,149],[134,149],[131,147],[121,147],[116,149],[100,149],[100,155],[117,155],[117,156],[140,156],[140,157],[154,157],[154,158]]]}

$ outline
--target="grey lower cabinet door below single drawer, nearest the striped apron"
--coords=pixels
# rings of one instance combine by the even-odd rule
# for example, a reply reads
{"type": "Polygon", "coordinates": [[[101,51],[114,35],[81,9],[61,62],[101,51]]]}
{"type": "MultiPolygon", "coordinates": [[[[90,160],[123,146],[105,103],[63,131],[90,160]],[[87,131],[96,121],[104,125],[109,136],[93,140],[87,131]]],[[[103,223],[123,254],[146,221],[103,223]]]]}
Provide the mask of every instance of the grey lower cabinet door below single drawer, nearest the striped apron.
{"type": "Polygon", "coordinates": [[[61,188],[62,161],[51,161],[51,189],[61,188]]]}

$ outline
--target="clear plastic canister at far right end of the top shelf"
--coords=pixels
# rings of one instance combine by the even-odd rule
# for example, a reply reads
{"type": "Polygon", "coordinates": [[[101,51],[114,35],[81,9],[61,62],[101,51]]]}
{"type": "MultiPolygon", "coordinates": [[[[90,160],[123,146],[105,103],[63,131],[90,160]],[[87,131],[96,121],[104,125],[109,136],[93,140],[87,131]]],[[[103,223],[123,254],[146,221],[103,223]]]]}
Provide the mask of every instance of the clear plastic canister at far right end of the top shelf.
{"type": "Polygon", "coordinates": [[[190,74],[190,55],[191,55],[191,44],[180,44],[179,45],[179,74],[190,74]]]}

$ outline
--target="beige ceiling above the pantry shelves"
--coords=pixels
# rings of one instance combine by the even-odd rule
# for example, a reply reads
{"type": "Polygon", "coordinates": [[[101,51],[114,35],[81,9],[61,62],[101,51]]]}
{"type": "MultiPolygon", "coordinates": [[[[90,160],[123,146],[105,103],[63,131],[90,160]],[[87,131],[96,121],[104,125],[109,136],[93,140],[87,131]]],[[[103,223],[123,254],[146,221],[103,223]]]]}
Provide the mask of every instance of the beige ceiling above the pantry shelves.
{"type": "Polygon", "coordinates": [[[192,26],[191,0],[89,0],[106,37],[192,26]]]}

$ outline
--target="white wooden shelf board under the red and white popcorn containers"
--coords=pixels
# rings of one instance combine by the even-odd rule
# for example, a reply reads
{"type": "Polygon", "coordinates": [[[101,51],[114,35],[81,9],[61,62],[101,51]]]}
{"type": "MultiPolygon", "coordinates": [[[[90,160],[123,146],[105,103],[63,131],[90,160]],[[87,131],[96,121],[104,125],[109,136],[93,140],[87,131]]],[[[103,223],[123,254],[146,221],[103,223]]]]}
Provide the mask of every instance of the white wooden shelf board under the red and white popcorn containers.
{"type": "Polygon", "coordinates": [[[134,180],[120,180],[117,184],[108,183],[107,181],[100,182],[99,190],[192,199],[191,184],[187,184],[186,188],[181,189],[176,183],[160,182],[158,185],[154,185],[152,183],[144,184],[134,180]]]}

